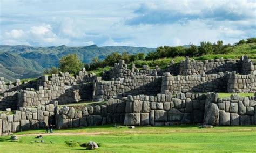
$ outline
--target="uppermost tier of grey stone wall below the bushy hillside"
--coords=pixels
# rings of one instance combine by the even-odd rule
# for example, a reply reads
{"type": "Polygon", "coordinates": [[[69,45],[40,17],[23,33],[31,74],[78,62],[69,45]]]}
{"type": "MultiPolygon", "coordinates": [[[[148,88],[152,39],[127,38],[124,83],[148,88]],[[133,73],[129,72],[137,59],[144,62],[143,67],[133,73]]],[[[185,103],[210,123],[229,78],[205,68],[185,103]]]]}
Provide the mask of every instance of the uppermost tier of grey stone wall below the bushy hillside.
{"type": "Polygon", "coordinates": [[[155,69],[149,69],[146,65],[143,65],[143,69],[139,70],[132,65],[131,69],[127,68],[124,60],[120,60],[119,63],[115,64],[110,71],[106,71],[103,74],[104,80],[110,80],[111,78],[130,78],[136,75],[154,75],[161,76],[165,72],[170,72],[171,75],[203,75],[203,74],[217,74],[218,72],[231,72],[237,71],[240,74],[255,74],[254,63],[248,59],[248,56],[241,56],[240,60],[233,59],[219,59],[195,61],[190,60],[188,56],[184,61],[180,63],[170,62],[170,65],[166,69],[160,69],[156,67],[155,69]]]}

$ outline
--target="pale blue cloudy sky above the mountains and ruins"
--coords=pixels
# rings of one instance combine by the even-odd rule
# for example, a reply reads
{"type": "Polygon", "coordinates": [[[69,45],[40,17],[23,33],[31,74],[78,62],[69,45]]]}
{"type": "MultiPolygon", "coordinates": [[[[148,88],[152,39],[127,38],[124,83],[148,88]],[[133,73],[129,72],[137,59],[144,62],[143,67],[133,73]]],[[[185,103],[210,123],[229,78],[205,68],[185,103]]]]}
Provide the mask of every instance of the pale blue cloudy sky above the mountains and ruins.
{"type": "Polygon", "coordinates": [[[0,44],[178,46],[256,37],[256,0],[0,0],[0,44]]]}

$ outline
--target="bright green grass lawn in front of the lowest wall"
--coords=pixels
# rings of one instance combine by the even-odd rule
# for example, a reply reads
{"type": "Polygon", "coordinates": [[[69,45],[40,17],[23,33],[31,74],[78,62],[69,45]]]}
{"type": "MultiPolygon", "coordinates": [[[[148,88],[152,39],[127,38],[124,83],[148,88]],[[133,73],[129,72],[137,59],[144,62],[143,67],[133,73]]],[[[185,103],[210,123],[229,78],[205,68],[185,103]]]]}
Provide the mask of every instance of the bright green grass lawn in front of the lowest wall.
{"type": "Polygon", "coordinates": [[[45,135],[45,143],[31,143],[34,135],[44,130],[19,132],[17,142],[10,136],[0,137],[0,152],[254,152],[256,126],[215,127],[199,126],[127,127],[113,125],[55,130],[59,135],[45,135]],[[85,133],[106,134],[85,135],[85,133]],[[64,135],[77,133],[77,135],[64,135]],[[27,134],[24,136],[24,134],[27,134]],[[23,136],[22,136],[23,135],[23,136]],[[52,143],[50,143],[50,141],[52,143]],[[98,150],[85,150],[79,145],[70,147],[65,141],[100,143],[98,150]]]}

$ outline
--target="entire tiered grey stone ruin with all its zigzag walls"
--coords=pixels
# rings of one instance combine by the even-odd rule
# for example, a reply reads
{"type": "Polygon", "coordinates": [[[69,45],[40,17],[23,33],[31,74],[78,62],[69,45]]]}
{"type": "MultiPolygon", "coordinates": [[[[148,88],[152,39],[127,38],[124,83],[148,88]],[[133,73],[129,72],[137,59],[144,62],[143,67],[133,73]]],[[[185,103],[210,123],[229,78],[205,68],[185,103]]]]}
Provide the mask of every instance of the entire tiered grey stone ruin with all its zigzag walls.
{"type": "Polygon", "coordinates": [[[0,79],[0,135],[55,125],[57,129],[119,123],[122,125],[255,125],[254,96],[220,98],[218,92],[255,93],[256,66],[242,56],[180,63],[166,69],[131,69],[123,60],[102,77],[83,68],[21,83],[0,79]],[[208,93],[206,93],[208,92],[208,93]],[[72,105],[107,101],[105,105],[72,105]],[[66,104],[71,104],[65,106],[66,104]],[[62,105],[62,106],[60,106],[62,105]]]}

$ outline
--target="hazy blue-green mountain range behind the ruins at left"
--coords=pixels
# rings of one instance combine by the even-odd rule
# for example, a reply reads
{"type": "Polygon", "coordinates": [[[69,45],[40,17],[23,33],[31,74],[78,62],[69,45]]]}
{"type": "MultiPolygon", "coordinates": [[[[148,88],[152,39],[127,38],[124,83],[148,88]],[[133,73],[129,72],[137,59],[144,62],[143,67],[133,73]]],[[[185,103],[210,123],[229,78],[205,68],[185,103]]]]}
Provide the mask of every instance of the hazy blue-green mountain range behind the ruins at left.
{"type": "Polygon", "coordinates": [[[148,53],[155,48],[130,47],[130,46],[105,46],[97,45],[68,47],[32,47],[26,45],[0,45],[0,77],[9,80],[16,78],[32,78],[42,75],[46,68],[57,67],[60,57],[76,53],[83,63],[90,63],[94,57],[103,60],[112,52],[148,53]]]}

